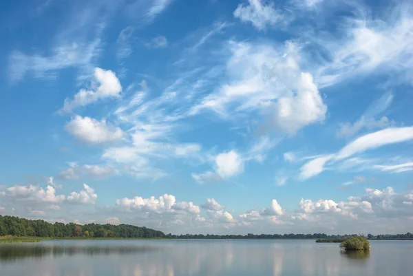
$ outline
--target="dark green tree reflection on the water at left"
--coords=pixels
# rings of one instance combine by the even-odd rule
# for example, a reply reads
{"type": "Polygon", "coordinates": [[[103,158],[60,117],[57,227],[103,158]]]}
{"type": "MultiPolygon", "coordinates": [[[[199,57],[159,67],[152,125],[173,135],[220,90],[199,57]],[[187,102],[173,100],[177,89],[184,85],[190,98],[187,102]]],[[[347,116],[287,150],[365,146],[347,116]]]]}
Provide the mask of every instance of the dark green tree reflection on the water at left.
{"type": "Polygon", "coordinates": [[[0,262],[30,257],[144,253],[154,249],[151,246],[0,246],[0,262]]]}

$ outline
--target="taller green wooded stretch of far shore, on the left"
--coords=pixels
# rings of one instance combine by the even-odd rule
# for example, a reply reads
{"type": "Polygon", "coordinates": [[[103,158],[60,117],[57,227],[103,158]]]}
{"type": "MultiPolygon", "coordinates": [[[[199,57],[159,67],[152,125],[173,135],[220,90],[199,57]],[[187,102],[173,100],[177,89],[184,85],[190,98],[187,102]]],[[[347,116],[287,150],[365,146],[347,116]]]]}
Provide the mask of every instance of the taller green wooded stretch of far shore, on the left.
{"type": "Polygon", "coordinates": [[[0,215],[0,236],[17,237],[165,237],[162,231],[129,224],[64,224],[0,215]]]}

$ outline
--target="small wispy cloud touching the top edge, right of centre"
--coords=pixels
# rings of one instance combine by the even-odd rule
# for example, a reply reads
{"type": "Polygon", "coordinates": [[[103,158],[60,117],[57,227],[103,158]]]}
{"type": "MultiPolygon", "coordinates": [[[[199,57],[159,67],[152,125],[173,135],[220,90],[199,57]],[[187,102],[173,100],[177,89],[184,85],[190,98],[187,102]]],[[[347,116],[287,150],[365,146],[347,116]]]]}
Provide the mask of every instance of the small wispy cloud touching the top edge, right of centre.
{"type": "Polygon", "coordinates": [[[268,5],[265,2],[264,0],[248,0],[248,5],[241,3],[234,11],[234,17],[243,22],[251,22],[258,30],[265,30],[268,26],[283,23],[286,20],[284,13],[275,9],[272,2],[268,1],[268,5]]]}

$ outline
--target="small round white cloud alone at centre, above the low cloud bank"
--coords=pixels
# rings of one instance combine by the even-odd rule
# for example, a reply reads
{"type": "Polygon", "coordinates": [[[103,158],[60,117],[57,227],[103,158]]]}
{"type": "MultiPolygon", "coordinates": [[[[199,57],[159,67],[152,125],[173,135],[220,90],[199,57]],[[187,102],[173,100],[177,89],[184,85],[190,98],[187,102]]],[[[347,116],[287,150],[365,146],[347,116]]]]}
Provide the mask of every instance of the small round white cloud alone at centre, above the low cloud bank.
{"type": "Polygon", "coordinates": [[[220,153],[215,157],[215,171],[222,178],[229,178],[244,171],[244,160],[235,150],[220,153]]]}

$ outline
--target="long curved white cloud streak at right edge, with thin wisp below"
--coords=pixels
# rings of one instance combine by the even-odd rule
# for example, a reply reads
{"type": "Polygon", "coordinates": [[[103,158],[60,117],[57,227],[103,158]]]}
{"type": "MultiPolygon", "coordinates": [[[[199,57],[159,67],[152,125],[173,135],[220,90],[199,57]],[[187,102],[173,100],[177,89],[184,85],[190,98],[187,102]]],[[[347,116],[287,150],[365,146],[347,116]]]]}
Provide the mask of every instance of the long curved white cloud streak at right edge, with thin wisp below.
{"type": "MultiPolygon", "coordinates": [[[[400,142],[413,140],[413,127],[390,127],[388,129],[379,130],[371,134],[361,136],[348,145],[340,149],[337,153],[317,156],[313,160],[308,161],[301,167],[299,178],[306,180],[317,176],[324,171],[324,166],[327,162],[334,164],[337,162],[345,163],[354,155],[363,153],[368,150],[377,149],[385,145],[392,145],[400,142]]],[[[387,171],[402,172],[410,168],[409,163],[403,164],[401,167],[388,167],[387,171]]],[[[385,167],[373,167],[374,169],[386,169],[385,167]]]]}

